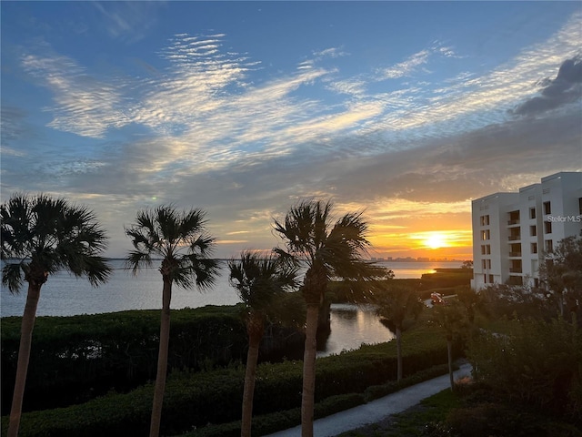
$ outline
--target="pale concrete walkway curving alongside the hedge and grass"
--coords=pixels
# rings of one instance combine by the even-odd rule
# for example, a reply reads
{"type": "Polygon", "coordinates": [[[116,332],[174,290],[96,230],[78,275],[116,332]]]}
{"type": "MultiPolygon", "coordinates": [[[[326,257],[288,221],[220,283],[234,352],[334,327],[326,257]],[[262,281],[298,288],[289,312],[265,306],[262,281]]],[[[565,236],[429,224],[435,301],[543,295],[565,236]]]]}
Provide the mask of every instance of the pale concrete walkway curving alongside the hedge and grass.
{"type": "MultiPolygon", "coordinates": [[[[455,379],[462,378],[471,373],[470,364],[462,364],[458,371],[455,371],[455,379]]],[[[401,391],[389,394],[376,401],[359,405],[356,408],[337,412],[331,416],[317,419],[314,422],[314,435],[316,437],[334,437],[342,432],[355,430],[364,425],[380,422],[386,416],[397,412],[404,412],[406,409],[416,405],[439,391],[450,387],[448,374],[439,376],[429,381],[424,381],[412,385],[401,391]]],[[[270,434],[269,437],[298,437],[301,435],[301,426],[296,426],[285,431],[270,434]]]]}

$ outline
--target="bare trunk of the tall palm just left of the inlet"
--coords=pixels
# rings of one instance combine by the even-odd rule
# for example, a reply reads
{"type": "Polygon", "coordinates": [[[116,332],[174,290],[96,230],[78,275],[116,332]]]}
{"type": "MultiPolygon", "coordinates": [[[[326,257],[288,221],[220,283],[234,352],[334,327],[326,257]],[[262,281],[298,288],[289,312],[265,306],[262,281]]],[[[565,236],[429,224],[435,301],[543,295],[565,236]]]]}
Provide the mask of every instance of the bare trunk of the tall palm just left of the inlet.
{"type": "Polygon", "coordinates": [[[306,347],[303,356],[303,392],[301,396],[301,436],[313,437],[313,412],[316,391],[317,319],[319,306],[307,304],[306,347]]]}

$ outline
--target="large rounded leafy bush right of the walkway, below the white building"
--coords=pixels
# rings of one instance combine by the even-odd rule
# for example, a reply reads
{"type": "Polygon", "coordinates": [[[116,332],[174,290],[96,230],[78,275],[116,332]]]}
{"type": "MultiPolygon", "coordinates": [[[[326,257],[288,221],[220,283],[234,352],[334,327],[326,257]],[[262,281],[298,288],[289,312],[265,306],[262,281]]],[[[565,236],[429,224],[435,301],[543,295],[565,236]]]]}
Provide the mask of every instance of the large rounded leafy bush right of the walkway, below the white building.
{"type": "Polygon", "coordinates": [[[467,351],[477,381],[498,396],[582,421],[582,330],[567,320],[511,320],[467,351]]]}

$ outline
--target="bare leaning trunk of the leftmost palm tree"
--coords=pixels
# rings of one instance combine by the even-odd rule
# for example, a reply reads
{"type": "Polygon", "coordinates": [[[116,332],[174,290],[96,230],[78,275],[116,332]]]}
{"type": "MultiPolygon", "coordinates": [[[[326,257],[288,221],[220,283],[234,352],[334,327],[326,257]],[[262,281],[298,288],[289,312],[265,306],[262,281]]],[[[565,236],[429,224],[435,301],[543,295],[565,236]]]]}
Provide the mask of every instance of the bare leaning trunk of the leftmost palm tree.
{"type": "Polygon", "coordinates": [[[22,326],[20,329],[20,347],[18,349],[18,362],[16,364],[15,391],[10,409],[10,422],[8,424],[8,437],[16,437],[20,427],[20,416],[22,414],[22,403],[25,396],[26,373],[28,372],[28,361],[30,361],[30,348],[33,340],[33,330],[35,328],[36,307],[40,298],[41,285],[28,284],[26,293],[25,312],[22,316],[22,326]]]}

